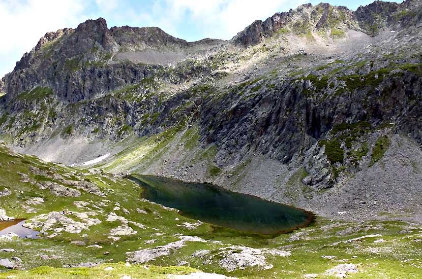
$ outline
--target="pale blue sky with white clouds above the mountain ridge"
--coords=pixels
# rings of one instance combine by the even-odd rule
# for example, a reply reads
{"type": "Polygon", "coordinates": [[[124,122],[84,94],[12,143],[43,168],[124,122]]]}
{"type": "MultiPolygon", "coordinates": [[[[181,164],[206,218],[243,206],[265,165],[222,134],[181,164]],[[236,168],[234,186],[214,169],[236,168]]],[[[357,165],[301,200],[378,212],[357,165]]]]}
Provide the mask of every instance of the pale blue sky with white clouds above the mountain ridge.
{"type": "MultiPolygon", "coordinates": [[[[391,1],[391,0],[390,0],[391,1]]],[[[103,17],[112,26],[158,26],[187,41],[231,39],[257,19],[313,0],[0,0],[0,78],[48,31],[103,17]]],[[[325,0],[356,10],[373,0],[325,0]]],[[[395,0],[395,2],[402,2],[395,0]]]]}

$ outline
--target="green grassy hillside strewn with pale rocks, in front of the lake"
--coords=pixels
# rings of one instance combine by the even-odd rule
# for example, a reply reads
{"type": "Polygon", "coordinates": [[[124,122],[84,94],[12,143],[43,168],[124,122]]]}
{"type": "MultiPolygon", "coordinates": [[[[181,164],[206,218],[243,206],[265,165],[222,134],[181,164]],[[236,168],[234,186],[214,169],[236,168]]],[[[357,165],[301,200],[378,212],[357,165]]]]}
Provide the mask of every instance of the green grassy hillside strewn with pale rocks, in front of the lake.
{"type": "Polygon", "coordinates": [[[0,251],[0,259],[10,259],[16,269],[0,268],[0,278],[164,278],[196,269],[237,277],[291,278],[326,278],[345,270],[350,278],[421,273],[422,228],[406,222],[318,218],[290,234],[263,236],[184,218],[142,199],[142,190],[131,181],[99,170],[45,163],[5,146],[0,146],[0,164],[0,192],[7,194],[0,196],[1,208],[42,231],[37,239],[0,240],[2,249],[15,250],[0,251]],[[42,189],[45,185],[50,186],[42,189]],[[73,189],[60,193],[80,195],[57,196],[57,185],[73,189]],[[39,198],[43,202],[34,204],[39,198]],[[54,213],[65,208],[72,214],[54,213]],[[138,257],[131,254],[134,251],[138,257]],[[144,267],[151,263],[154,266],[144,267]],[[88,267],[95,264],[100,265],[88,267]],[[175,265],[184,267],[167,267],[175,265]]]}

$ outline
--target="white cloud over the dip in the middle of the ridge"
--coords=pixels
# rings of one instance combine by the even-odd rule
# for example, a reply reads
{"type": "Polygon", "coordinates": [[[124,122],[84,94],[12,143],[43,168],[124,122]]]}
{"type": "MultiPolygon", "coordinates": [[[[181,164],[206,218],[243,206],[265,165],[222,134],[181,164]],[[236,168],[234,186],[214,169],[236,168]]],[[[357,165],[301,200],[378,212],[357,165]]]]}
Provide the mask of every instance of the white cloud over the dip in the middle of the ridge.
{"type": "Polygon", "coordinates": [[[137,16],[139,21],[155,23],[175,36],[178,36],[180,25],[191,22],[193,26],[190,27],[200,29],[203,38],[231,39],[253,21],[296,8],[305,2],[306,0],[160,0],[155,2],[152,11],[137,16]]]}

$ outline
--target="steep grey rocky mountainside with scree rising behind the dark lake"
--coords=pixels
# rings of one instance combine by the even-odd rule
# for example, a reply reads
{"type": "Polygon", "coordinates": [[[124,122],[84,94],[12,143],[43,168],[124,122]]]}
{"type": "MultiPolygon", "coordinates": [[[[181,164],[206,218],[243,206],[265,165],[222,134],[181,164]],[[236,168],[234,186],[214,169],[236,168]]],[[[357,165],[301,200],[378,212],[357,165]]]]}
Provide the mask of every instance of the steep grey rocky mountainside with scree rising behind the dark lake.
{"type": "Polygon", "coordinates": [[[192,43],[88,20],[47,33],[2,80],[0,133],[49,161],[111,153],[110,172],[420,220],[421,10],[307,4],[192,43]]]}

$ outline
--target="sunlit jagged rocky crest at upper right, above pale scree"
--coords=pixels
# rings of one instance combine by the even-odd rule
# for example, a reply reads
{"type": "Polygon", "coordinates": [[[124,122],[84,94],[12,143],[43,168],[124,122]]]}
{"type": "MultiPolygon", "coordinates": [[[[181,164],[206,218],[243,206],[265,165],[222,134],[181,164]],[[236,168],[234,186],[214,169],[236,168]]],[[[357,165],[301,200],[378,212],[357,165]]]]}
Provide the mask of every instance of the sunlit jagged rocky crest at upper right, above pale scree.
{"type": "MultiPolygon", "coordinates": [[[[304,4],[289,12],[276,13],[264,21],[256,20],[233,37],[237,45],[256,45],[263,38],[272,37],[277,32],[291,32],[296,35],[307,32],[325,32],[330,37],[343,37],[344,31],[358,30],[376,36],[385,28],[398,27],[400,20],[411,17],[401,27],[418,22],[419,1],[407,0],[402,4],[375,1],[352,11],[345,6],[320,3],[313,6],[304,4]],[[409,12],[411,10],[412,12],[409,12]]],[[[399,26],[400,27],[400,26],[399,26]]]]}

